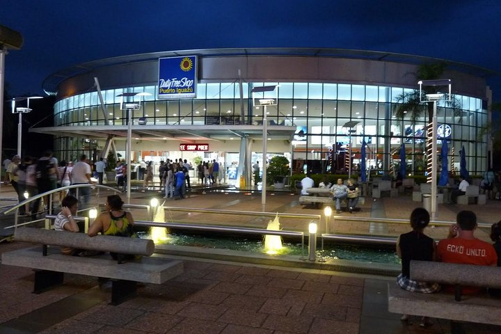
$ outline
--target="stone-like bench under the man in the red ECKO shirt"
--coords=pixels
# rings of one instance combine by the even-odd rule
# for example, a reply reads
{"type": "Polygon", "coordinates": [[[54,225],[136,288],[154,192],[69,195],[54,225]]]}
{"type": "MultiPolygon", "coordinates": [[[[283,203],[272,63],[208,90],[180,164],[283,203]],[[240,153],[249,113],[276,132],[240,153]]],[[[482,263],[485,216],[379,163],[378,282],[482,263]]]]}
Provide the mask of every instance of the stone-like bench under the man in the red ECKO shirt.
{"type": "Polygon", "coordinates": [[[389,312],[449,319],[453,334],[463,333],[458,321],[501,326],[501,299],[487,293],[461,296],[461,286],[501,288],[501,267],[411,261],[411,278],[454,285],[456,293],[421,294],[389,283],[389,312]]]}

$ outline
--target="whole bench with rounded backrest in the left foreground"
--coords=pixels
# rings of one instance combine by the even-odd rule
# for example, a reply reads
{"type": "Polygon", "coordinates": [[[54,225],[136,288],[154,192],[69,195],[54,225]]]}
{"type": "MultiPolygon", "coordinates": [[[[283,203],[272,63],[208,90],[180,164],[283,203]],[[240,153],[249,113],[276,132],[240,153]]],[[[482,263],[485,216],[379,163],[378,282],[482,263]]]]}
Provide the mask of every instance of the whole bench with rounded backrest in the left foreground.
{"type": "Polygon", "coordinates": [[[64,273],[77,273],[112,280],[111,305],[118,305],[137,296],[138,282],[161,284],[180,275],[183,263],[161,257],[149,257],[154,252],[150,239],[112,237],[72,233],[38,228],[17,228],[14,238],[43,246],[3,253],[1,263],[35,269],[33,292],[39,294],[63,284],[64,273]],[[47,245],[51,245],[50,247],[47,245]],[[91,257],[69,256],[61,253],[64,246],[84,250],[100,250],[142,255],[140,260],[120,264],[109,254],[91,257]]]}

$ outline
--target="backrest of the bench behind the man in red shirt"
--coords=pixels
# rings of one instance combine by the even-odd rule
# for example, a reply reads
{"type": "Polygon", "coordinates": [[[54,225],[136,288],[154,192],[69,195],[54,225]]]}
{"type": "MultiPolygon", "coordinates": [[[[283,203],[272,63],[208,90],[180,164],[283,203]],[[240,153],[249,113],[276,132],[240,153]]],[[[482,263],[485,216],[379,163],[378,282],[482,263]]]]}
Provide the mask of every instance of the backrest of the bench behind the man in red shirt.
{"type": "Polygon", "coordinates": [[[450,285],[501,288],[501,267],[412,260],[411,279],[450,285]]]}

